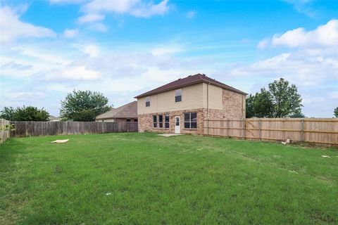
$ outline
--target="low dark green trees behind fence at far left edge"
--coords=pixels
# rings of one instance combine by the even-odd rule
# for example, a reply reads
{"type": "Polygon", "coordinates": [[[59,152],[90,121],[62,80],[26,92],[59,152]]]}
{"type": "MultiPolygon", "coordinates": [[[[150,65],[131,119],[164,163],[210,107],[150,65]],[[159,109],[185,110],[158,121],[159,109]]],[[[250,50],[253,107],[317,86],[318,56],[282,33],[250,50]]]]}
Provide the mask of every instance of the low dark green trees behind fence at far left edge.
{"type": "Polygon", "coordinates": [[[11,121],[48,121],[49,113],[44,108],[38,109],[34,106],[25,107],[24,105],[22,108],[15,109],[4,107],[0,112],[0,117],[11,121]]]}

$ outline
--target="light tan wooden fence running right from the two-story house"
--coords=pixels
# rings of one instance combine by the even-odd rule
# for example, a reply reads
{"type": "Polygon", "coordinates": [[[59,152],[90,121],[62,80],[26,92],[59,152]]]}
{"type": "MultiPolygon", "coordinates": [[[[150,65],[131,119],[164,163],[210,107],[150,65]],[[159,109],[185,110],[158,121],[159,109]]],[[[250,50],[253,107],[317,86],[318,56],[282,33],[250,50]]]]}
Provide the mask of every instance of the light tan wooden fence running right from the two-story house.
{"type": "Polygon", "coordinates": [[[204,134],[271,141],[290,139],[338,145],[338,119],[204,120],[204,134]]]}

